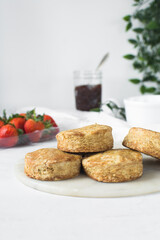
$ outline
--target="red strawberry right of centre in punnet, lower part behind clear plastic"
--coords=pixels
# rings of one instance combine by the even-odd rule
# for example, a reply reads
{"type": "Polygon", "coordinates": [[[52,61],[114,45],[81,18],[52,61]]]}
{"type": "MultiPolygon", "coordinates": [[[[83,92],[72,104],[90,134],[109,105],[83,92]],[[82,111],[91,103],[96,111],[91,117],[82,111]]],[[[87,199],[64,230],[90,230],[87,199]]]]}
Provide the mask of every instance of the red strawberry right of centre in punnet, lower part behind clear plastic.
{"type": "Polygon", "coordinates": [[[24,124],[24,130],[31,142],[38,142],[40,140],[41,130],[43,129],[44,124],[41,121],[36,122],[33,119],[28,119],[24,124]]]}

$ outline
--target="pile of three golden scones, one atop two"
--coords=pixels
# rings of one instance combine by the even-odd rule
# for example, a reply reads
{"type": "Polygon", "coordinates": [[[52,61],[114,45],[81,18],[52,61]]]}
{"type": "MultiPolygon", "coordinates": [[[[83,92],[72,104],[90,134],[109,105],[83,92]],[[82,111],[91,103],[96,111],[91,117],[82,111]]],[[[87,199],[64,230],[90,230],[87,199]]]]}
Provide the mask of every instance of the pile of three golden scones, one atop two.
{"type": "MultiPolygon", "coordinates": [[[[134,135],[134,134],[133,134],[134,135]]],[[[124,182],[143,174],[142,155],[133,147],[130,136],[123,144],[130,149],[112,149],[112,128],[94,124],[57,134],[55,148],[39,149],[26,154],[25,173],[39,180],[64,180],[85,173],[101,182],[124,182]],[[131,146],[132,145],[132,146],[131,146]]],[[[134,144],[133,144],[134,143],[134,144]]]]}

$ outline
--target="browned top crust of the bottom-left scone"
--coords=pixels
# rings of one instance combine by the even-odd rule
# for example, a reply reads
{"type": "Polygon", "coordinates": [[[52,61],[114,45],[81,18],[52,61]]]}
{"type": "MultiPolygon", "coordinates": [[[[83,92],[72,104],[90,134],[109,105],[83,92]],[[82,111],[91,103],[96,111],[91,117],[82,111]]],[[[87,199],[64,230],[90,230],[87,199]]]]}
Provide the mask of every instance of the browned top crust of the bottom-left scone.
{"type": "Polygon", "coordinates": [[[58,162],[77,161],[81,160],[80,155],[69,154],[62,152],[56,148],[42,148],[34,152],[27,153],[25,160],[31,161],[38,164],[52,164],[58,162]]]}

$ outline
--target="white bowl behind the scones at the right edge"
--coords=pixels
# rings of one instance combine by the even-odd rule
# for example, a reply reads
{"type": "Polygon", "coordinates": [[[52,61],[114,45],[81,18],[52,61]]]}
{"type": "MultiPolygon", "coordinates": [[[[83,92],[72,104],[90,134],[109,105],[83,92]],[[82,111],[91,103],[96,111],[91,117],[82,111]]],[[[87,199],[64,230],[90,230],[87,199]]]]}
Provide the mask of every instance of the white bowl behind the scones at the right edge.
{"type": "Polygon", "coordinates": [[[124,99],[127,122],[132,126],[160,125],[160,95],[124,99]]]}

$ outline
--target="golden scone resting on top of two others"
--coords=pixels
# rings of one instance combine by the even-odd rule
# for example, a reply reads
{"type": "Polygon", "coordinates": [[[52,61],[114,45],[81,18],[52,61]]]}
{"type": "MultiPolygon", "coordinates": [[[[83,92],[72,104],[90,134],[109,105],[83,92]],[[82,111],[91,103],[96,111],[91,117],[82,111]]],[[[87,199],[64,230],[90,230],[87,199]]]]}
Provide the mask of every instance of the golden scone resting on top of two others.
{"type": "Polygon", "coordinates": [[[113,147],[112,128],[93,124],[56,135],[58,149],[65,152],[102,152],[113,147]]]}

